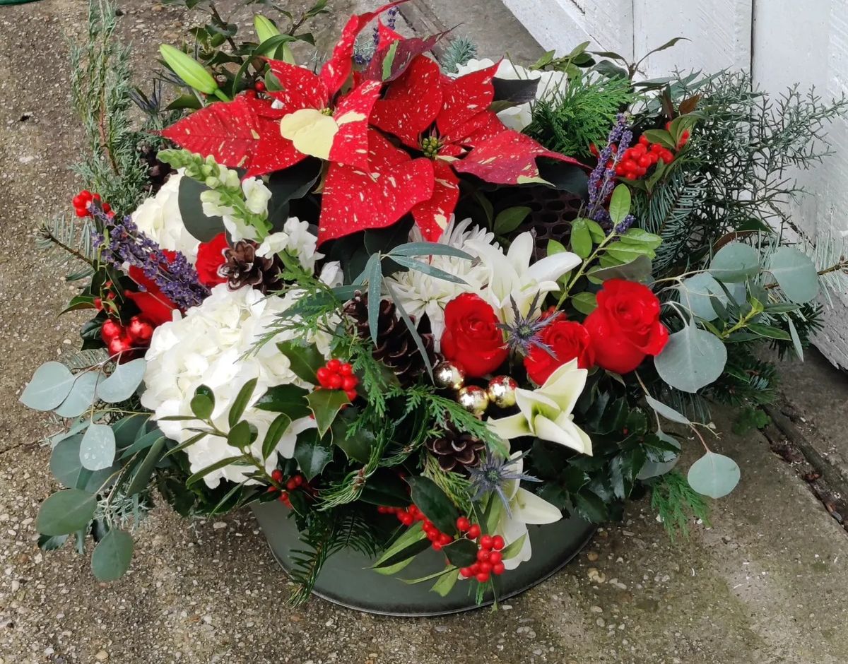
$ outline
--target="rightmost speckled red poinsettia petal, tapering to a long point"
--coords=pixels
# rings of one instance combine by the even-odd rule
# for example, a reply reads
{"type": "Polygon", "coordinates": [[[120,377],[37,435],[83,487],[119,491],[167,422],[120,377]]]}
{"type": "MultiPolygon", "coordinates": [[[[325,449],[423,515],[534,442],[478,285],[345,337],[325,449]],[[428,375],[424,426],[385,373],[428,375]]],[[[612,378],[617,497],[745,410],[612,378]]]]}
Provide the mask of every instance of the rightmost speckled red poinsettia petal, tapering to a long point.
{"type": "Polygon", "coordinates": [[[479,143],[465,159],[456,162],[454,168],[494,184],[544,182],[536,165],[538,157],[558,159],[584,168],[577,159],[551,152],[533,138],[511,129],[479,143]]]}

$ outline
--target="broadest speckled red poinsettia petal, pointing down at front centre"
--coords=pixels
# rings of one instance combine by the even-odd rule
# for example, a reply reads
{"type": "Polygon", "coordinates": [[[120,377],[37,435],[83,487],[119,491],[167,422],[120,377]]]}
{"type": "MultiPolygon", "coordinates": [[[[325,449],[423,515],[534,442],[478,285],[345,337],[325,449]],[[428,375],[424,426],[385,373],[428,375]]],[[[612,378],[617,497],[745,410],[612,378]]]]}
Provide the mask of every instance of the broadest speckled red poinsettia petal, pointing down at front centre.
{"type": "Polygon", "coordinates": [[[377,131],[368,136],[369,168],[331,164],[324,183],[318,243],[391,226],[432,196],[430,159],[409,154],[377,131]]]}

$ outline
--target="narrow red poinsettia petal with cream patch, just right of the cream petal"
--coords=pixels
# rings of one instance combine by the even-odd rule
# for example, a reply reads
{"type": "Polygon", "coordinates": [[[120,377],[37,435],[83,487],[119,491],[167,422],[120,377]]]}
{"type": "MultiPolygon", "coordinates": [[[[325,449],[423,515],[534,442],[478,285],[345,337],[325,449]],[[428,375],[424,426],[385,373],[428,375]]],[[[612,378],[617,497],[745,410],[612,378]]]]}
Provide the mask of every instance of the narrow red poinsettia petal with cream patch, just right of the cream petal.
{"type": "Polygon", "coordinates": [[[338,103],[332,114],[338,132],[330,149],[331,161],[368,169],[368,119],[381,88],[380,81],[365,81],[338,103]]]}

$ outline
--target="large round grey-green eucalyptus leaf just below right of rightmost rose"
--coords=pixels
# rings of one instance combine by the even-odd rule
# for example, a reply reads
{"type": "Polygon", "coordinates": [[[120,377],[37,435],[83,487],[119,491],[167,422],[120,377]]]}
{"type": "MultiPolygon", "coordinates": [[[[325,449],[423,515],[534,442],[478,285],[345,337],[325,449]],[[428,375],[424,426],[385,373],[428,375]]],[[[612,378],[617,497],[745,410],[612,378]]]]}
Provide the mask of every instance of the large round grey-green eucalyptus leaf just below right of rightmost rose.
{"type": "Polygon", "coordinates": [[[728,349],[710,332],[693,325],[674,332],[654,358],[656,371],[672,388],[697,392],[717,380],[728,361],[728,349]]]}

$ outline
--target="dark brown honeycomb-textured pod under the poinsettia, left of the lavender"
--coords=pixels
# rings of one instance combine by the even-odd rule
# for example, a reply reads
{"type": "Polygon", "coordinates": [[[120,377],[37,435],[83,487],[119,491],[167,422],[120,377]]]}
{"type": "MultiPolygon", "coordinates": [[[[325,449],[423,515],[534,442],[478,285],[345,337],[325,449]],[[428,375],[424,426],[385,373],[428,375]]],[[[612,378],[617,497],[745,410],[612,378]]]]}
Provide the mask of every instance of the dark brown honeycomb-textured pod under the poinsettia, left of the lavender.
{"type": "Polygon", "coordinates": [[[530,208],[530,214],[516,232],[533,233],[535,249],[533,259],[540,260],[548,255],[548,240],[567,244],[571,237],[572,221],[580,212],[581,198],[570,192],[550,187],[513,187],[505,207],[522,205],[530,208]]]}

